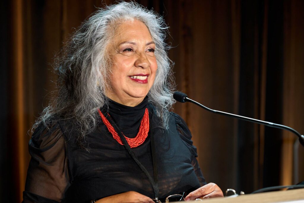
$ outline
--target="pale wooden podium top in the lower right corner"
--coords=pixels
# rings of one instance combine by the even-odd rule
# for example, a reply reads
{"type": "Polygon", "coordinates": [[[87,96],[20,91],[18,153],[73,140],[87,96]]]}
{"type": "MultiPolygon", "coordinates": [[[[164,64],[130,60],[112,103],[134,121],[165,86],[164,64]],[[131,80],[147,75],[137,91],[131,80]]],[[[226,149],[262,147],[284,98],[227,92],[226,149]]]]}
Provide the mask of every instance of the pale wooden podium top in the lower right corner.
{"type": "Polygon", "coordinates": [[[258,194],[244,194],[237,197],[213,198],[204,199],[203,201],[189,201],[189,202],[219,202],[219,203],[256,203],[256,202],[304,202],[304,188],[293,189],[286,191],[263,192],[258,194]],[[297,201],[302,200],[302,201],[297,201]]]}

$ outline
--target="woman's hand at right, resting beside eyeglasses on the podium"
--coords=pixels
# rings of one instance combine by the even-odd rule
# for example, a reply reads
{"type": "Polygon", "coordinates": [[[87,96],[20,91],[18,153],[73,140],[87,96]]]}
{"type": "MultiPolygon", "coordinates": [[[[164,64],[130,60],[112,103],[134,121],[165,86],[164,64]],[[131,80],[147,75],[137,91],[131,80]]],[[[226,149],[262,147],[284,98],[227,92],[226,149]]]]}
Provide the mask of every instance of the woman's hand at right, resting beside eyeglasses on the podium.
{"type": "Polygon", "coordinates": [[[190,192],[185,200],[195,200],[196,198],[213,198],[213,197],[224,197],[223,192],[219,186],[215,183],[208,183],[204,185],[203,187],[200,187],[199,189],[190,192]]]}

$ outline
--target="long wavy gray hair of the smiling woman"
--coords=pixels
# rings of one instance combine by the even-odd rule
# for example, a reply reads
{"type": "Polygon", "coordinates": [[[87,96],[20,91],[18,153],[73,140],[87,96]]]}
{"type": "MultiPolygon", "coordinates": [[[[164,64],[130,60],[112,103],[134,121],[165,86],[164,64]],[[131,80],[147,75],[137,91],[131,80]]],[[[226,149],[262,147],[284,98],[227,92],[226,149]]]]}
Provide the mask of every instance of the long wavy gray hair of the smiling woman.
{"type": "Polygon", "coordinates": [[[148,93],[149,103],[161,118],[161,127],[168,129],[169,110],[175,101],[172,63],[167,54],[170,47],[165,43],[168,27],[161,16],[135,2],[119,2],[98,9],[71,36],[55,59],[58,95],[43,110],[33,129],[41,123],[47,127],[54,121],[68,120],[78,130],[78,144],[83,145],[85,135],[96,128],[100,119],[97,109],[108,101],[105,90],[109,86],[111,60],[106,47],[117,25],[132,19],[143,22],[155,42],[158,68],[148,93]]]}

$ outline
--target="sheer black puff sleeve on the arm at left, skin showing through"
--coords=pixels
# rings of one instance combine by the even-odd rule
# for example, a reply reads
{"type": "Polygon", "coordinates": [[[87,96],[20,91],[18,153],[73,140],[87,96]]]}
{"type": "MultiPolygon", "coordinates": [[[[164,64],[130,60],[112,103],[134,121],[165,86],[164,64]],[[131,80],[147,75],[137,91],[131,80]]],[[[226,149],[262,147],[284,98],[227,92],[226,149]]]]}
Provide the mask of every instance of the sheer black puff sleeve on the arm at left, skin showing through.
{"type": "Polygon", "coordinates": [[[40,125],[29,141],[31,160],[27,171],[24,203],[64,202],[70,186],[66,142],[59,124],[40,125]]]}

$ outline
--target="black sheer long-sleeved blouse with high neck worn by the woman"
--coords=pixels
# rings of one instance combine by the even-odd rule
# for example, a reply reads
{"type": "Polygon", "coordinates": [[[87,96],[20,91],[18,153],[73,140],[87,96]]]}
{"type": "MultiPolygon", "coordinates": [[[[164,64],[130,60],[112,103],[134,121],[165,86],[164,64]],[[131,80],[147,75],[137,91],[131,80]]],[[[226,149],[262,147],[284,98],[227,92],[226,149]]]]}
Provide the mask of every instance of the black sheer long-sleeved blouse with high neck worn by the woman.
{"type": "MultiPolygon", "coordinates": [[[[148,108],[151,128],[145,142],[133,152],[153,177],[150,133],[156,146],[159,197],[191,192],[206,184],[196,160],[196,148],[185,121],[170,113],[169,130],[159,128],[159,118],[146,98],[136,107],[110,101],[109,114],[125,136],[136,136],[144,110],[148,108]]],[[[136,191],[154,198],[153,188],[123,145],[120,145],[100,119],[87,136],[89,152],[74,140],[68,122],[49,130],[36,129],[29,142],[29,163],[24,203],[86,203],[113,194],[136,191]]]]}

